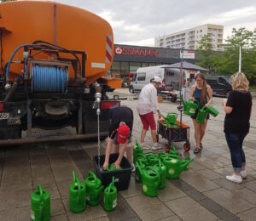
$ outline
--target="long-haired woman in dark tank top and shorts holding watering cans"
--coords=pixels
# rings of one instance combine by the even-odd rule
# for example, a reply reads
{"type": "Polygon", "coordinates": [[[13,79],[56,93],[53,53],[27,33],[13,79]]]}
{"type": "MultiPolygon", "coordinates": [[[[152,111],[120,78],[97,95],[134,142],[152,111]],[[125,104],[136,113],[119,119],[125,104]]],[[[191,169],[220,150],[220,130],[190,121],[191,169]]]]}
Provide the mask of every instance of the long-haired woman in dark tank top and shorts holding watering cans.
{"type": "MultiPolygon", "coordinates": [[[[190,99],[197,100],[200,103],[200,108],[204,105],[210,105],[212,102],[212,88],[210,85],[207,85],[205,77],[199,73],[195,76],[195,82],[196,84],[193,85],[190,90],[190,99]]],[[[209,116],[207,116],[207,120],[204,124],[196,122],[197,112],[198,110],[195,111],[195,116],[191,116],[195,127],[195,154],[199,153],[202,149],[201,142],[206,133],[207,120],[209,119],[209,116]]]]}

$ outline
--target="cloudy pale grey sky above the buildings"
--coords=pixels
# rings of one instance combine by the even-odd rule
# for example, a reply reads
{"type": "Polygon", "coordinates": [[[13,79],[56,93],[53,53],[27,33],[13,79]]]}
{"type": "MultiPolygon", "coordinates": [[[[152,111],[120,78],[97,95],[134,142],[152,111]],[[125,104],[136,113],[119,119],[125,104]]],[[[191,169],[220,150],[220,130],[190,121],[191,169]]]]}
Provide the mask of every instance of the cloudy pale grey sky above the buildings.
{"type": "Polygon", "coordinates": [[[224,39],[232,28],[256,28],[255,0],[55,0],[108,20],[114,43],[154,46],[154,37],[214,24],[224,26],[224,39]]]}

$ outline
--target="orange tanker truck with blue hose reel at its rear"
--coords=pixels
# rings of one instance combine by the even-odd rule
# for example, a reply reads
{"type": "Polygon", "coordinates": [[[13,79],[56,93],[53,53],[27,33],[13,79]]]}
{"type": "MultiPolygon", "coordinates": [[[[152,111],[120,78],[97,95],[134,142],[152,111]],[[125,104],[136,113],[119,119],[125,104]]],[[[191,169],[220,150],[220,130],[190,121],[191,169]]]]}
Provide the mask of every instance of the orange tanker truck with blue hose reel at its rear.
{"type": "Polygon", "coordinates": [[[108,136],[102,77],[113,61],[106,20],[61,3],[0,3],[0,144],[108,136]],[[77,135],[33,138],[32,128],[75,127],[77,135]],[[26,131],[26,138],[21,138],[26,131]]]}

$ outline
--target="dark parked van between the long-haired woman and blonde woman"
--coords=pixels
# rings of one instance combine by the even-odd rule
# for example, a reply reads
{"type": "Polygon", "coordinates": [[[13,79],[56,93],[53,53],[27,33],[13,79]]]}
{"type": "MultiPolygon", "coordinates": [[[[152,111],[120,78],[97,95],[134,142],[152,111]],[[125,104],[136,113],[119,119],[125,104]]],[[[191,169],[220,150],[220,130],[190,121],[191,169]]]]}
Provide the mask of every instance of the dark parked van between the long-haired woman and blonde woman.
{"type": "Polygon", "coordinates": [[[232,79],[224,76],[205,76],[207,84],[212,88],[212,94],[228,97],[232,90],[232,79]]]}

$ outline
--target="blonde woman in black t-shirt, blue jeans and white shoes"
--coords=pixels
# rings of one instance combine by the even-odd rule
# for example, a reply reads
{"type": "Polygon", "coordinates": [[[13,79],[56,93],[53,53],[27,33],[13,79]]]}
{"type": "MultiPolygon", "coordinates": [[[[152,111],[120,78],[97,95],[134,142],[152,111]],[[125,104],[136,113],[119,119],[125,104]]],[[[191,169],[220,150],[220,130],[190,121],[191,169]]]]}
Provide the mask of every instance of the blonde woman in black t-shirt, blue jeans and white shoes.
{"type": "Polygon", "coordinates": [[[228,100],[223,100],[224,133],[230,148],[234,173],[226,176],[230,181],[241,183],[247,177],[246,158],[242,150],[242,143],[250,128],[250,117],[253,109],[252,94],[248,91],[249,82],[244,73],[237,72],[232,81],[233,91],[228,100]]]}

